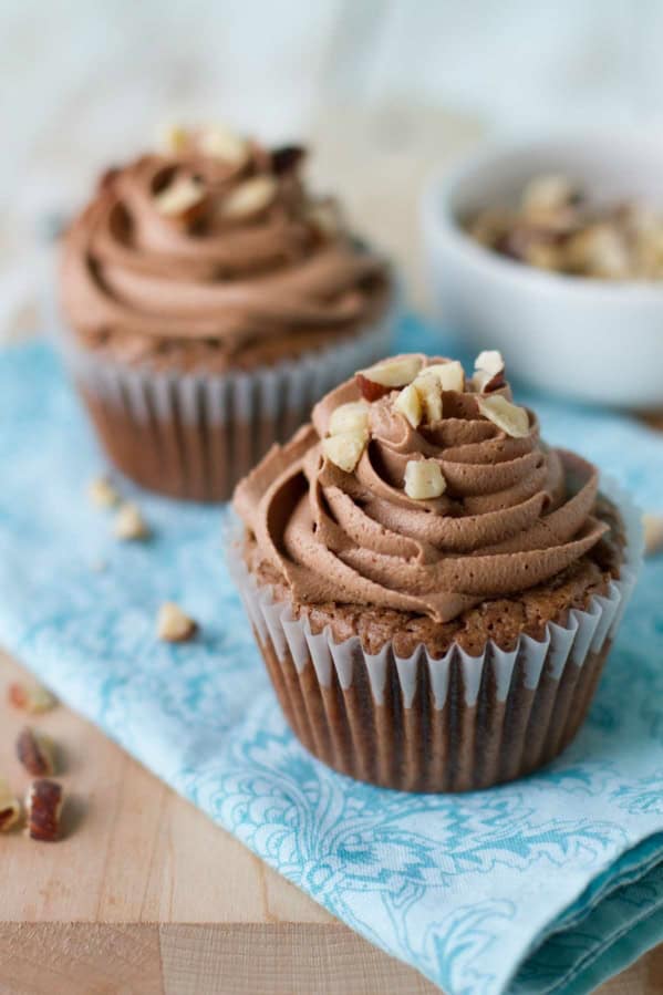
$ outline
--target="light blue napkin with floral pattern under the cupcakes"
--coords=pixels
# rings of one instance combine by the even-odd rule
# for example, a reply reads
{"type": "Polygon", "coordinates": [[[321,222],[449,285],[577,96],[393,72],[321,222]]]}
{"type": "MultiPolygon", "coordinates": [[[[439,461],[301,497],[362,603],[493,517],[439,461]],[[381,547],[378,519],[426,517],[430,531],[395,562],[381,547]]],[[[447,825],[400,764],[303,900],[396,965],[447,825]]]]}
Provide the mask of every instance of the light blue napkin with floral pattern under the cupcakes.
{"type": "MultiPolygon", "coordinates": [[[[400,339],[435,350],[413,322],[400,339]]],[[[550,442],[663,510],[663,439],[537,406],[550,442]]],[[[154,539],[117,543],[85,497],[102,466],[50,350],[0,352],[0,642],[68,704],[448,995],[588,992],[663,940],[663,558],[558,761],[410,796],[331,773],[288,730],[224,568],[221,512],[142,496],[154,539]],[[195,643],[156,641],[166,599],[200,621],[195,643]]]]}

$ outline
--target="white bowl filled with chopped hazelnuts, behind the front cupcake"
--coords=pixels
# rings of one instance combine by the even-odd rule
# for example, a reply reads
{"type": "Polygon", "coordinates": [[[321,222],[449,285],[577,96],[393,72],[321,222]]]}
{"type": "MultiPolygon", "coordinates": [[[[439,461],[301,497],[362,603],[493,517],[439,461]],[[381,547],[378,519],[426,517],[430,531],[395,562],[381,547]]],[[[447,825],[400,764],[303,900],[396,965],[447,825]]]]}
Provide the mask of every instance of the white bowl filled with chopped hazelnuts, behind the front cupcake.
{"type": "Polygon", "coordinates": [[[490,145],[422,200],[432,297],[468,348],[577,400],[663,408],[663,143],[490,145]]]}

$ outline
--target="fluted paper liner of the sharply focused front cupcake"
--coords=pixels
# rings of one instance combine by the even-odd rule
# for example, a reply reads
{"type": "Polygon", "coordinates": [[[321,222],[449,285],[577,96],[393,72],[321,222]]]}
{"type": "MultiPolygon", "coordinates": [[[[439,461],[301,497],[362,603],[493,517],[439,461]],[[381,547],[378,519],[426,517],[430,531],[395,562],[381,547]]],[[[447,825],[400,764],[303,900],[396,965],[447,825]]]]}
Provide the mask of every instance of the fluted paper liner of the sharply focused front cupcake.
{"type": "Polygon", "coordinates": [[[612,481],[601,489],[624,522],[619,580],[510,652],[489,641],[480,656],[454,643],[441,659],[423,645],[403,659],[390,641],[372,655],[358,636],[311,632],[234,558],[279,702],[307,749],[342,774],[407,791],[487,788],[556,757],[587,714],[642,557],[639,512],[612,481]]]}

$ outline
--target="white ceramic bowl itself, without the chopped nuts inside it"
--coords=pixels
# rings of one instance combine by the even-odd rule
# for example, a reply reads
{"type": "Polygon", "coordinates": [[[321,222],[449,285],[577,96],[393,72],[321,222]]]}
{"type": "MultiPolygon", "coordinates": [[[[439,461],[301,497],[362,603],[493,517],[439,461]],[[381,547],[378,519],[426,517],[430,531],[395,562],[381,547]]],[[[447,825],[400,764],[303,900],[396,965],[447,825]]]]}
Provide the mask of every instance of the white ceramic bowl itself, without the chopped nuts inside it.
{"type": "Polygon", "coordinates": [[[428,279],[445,325],[473,350],[499,349],[531,385],[582,401],[663,408],[663,282],[548,273],[484,248],[459,218],[563,173],[590,196],[663,211],[663,144],[567,138],[486,147],[424,194],[428,279]]]}

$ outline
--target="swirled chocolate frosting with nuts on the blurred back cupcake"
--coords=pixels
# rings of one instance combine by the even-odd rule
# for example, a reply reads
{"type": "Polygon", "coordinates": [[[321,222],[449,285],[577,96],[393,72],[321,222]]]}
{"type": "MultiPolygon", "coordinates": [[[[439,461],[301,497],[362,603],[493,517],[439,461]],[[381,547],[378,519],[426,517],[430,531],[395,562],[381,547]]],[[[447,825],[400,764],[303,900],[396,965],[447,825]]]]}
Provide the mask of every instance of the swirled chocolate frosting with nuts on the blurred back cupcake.
{"type": "Polygon", "coordinates": [[[253,366],[380,313],[384,260],[307,193],[303,151],[245,144],[228,162],[190,133],[102,178],[63,246],[63,309],[84,344],[162,366],[253,366]],[[166,213],[164,191],[191,183],[198,201],[166,213]]]}

